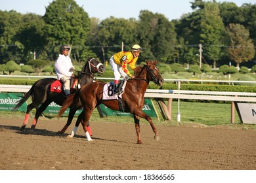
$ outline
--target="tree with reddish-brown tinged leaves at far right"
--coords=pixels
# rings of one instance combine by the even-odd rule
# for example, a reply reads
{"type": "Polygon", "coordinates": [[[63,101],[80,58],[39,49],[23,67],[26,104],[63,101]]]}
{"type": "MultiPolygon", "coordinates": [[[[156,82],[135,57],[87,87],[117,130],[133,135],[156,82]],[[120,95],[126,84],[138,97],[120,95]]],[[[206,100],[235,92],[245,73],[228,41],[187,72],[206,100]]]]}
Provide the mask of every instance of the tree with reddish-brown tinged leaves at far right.
{"type": "Polygon", "coordinates": [[[236,63],[236,67],[245,61],[254,58],[255,48],[252,40],[249,38],[249,31],[240,24],[230,24],[227,29],[228,56],[230,60],[236,63]]]}

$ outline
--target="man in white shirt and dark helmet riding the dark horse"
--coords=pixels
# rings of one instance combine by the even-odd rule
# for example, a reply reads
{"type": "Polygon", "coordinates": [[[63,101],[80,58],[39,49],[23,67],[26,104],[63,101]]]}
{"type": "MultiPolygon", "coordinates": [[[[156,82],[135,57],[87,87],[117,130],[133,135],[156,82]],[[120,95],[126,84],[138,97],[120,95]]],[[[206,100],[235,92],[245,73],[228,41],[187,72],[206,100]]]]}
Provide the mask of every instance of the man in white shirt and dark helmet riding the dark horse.
{"type": "Polygon", "coordinates": [[[69,50],[70,47],[68,45],[60,46],[60,54],[54,63],[56,75],[58,80],[63,82],[63,88],[66,95],[70,94],[70,78],[75,69],[70,57],[68,56],[69,50]]]}

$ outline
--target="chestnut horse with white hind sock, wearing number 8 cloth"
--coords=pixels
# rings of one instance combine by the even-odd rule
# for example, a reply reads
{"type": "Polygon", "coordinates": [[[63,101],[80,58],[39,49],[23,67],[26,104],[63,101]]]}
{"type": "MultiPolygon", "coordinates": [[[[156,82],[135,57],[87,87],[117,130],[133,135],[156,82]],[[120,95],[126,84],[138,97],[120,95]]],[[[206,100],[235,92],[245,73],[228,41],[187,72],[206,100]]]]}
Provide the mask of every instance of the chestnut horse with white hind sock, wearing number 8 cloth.
{"type": "MultiPolygon", "coordinates": [[[[163,77],[160,75],[160,72],[156,67],[157,62],[158,61],[146,60],[146,65],[143,67],[137,67],[135,69],[135,78],[127,80],[125,90],[121,94],[121,100],[125,112],[131,112],[131,114],[133,114],[138,144],[142,142],[140,138],[140,118],[144,118],[150,123],[155,133],[155,139],[160,139],[152,119],[142,111],[142,107],[144,105],[144,93],[148,88],[149,82],[153,81],[158,86],[163,84],[163,77]]],[[[72,107],[72,105],[76,103],[74,101],[80,100],[81,105],[83,106],[83,112],[80,114],[83,119],[83,122],[81,123],[83,124],[83,129],[85,131],[87,141],[93,141],[87,131],[87,123],[89,122],[95,107],[102,103],[106,105],[106,107],[112,108],[113,110],[121,111],[118,100],[102,100],[103,88],[105,84],[105,82],[98,81],[83,86],[74,95],[70,95],[68,99],[66,99],[62,105],[62,108],[60,108],[60,111],[58,112],[58,117],[60,117],[68,107],[72,107]]],[[[77,120],[75,128],[77,128],[78,125],[79,121],[77,120]]],[[[74,130],[76,131],[75,128],[74,130]]]]}

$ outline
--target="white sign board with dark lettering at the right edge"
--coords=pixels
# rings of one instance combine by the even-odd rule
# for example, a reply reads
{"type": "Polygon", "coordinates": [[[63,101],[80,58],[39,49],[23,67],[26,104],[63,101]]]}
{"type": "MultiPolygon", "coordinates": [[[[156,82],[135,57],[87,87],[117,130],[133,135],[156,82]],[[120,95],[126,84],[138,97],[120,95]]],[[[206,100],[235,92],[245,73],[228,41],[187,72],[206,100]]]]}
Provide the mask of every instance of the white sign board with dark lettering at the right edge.
{"type": "Polygon", "coordinates": [[[244,124],[256,124],[256,103],[237,103],[238,114],[244,124]]]}

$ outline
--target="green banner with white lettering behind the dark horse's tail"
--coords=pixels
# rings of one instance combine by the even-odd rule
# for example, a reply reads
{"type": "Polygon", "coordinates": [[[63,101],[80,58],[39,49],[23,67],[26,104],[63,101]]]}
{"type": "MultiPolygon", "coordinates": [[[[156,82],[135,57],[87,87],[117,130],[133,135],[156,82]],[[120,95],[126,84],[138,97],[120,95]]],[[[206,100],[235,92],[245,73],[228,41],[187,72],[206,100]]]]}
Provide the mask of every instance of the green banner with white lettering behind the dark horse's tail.
{"type": "MultiPolygon", "coordinates": [[[[11,111],[23,97],[22,93],[0,93],[0,110],[11,111]]],[[[27,103],[22,104],[18,110],[26,112],[27,103]]]]}

